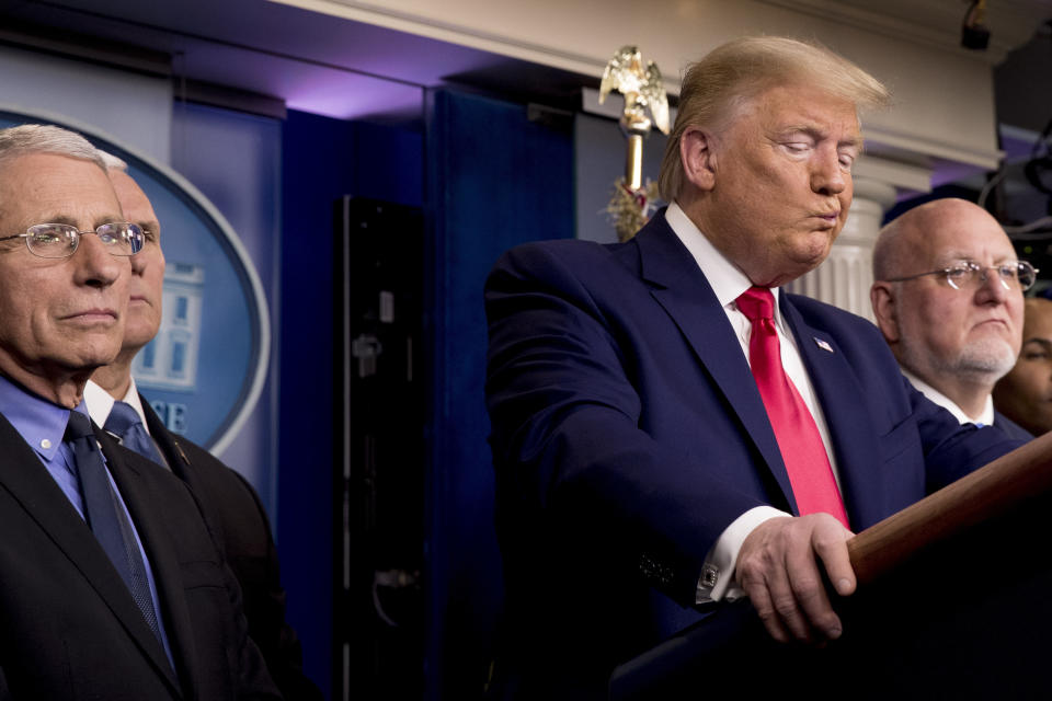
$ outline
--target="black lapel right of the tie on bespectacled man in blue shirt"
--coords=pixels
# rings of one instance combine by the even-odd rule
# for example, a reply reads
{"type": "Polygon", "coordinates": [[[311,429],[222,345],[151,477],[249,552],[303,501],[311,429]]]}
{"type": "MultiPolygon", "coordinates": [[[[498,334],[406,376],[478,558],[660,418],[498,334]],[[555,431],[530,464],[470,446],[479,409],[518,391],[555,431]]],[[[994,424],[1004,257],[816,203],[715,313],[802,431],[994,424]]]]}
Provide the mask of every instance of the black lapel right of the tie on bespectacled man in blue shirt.
{"type": "MultiPolygon", "coordinates": [[[[169,547],[171,536],[161,522],[164,516],[163,512],[157,508],[160,499],[157,496],[151,496],[150,485],[147,484],[142,474],[144,470],[162,470],[162,468],[138,453],[121,448],[116,440],[105,435],[104,432],[96,430],[96,434],[103,446],[103,451],[106,453],[113,479],[121,489],[121,496],[135,521],[139,540],[142,541],[142,549],[150,559],[153,583],[157,585],[160,608],[164,613],[168,643],[172,648],[172,655],[176,664],[182,668],[185,680],[182,688],[188,691],[187,698],[194,698],[195,685],[192,680],[196,678],[196,655],[193,650],[193,627],[190,620],[190,611],[186,608],[182,572],[174,551],[169,547]]],[[[159,473],[157,476],[163,476],[163,473],[159,473]]],[[[173,486],[178,485],[173,484],[173,486]]],[[[141,619],[141,616],[139,618],[141,619]]],[[[153,635],[148,628],[146,631],[152,639],[153,635]]],[[[168,657],[164,656],[163,650],[161,651],[161,660],[170,681],[179,688],[179,682],[172,676],[171,665],[168,664],[168,657]]]]}

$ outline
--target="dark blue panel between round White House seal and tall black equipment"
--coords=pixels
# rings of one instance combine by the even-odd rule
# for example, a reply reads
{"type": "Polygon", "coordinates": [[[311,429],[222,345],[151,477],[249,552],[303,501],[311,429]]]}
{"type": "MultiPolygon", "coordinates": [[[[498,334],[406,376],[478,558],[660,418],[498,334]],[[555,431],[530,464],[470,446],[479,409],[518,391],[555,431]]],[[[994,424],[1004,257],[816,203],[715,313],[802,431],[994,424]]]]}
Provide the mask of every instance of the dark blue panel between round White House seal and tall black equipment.
{"type": "MultiPolygon", "coordinates": [[[[420,134],[289,111],[283,125],[278,547],[307,675],[332,698],[333,203],[420,206],[420,134]]],[[[338,653],[339,654],[339,653],[338,653]]]]}

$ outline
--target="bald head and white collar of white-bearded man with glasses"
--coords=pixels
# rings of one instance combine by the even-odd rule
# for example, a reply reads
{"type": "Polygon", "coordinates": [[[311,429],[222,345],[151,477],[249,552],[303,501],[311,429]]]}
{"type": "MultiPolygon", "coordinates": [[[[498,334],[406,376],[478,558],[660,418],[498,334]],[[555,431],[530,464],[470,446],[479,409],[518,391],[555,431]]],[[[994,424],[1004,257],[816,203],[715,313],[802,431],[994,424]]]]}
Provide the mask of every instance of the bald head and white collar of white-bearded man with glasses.
{"type": "Polygon", "coordinates": [[[994,410],[991,392],[1019,355],[1022,294],[1036,276],[986,210],[936,199],[881,230],[870,299],[914,387],[962,424],[1029,438],[994,410]]]}

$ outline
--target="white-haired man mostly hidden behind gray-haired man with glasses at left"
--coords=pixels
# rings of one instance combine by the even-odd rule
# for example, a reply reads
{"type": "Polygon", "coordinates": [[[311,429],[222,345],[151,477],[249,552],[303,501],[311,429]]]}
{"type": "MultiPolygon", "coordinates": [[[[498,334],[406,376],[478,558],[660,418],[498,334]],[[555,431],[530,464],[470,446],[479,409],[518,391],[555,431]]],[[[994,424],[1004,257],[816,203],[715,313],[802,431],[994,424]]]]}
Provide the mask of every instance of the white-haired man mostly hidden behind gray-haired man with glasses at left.
{"type": "Polygon", "coordinates": [[[321,691],[304,676],[296,631],[285,622],[277,549],[259,495],[244,478],[207,450],[171,433],[138,393],[132,363],[157,335],[161,323],[161,227],[146,193],[128,175],[127,164],[108,153],[101,157],[124,216],[142,228],[145,242],[142,250],[130,258],[127,324],[121,353],[88,381],[88,411],[98,425],[113,433],[125,447],[163,464],[191,486],[224,545],[241,586],[249,634],[282,694],[289,701],[321,699],[321,691]]]}

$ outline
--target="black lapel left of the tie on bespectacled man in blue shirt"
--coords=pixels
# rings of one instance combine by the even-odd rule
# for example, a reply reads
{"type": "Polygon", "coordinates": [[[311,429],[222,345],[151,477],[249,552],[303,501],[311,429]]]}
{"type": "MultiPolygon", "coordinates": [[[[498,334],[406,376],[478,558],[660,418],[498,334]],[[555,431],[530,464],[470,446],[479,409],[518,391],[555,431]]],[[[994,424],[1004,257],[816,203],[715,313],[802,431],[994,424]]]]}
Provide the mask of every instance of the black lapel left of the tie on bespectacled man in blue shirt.
{"type": "MultiPolygon", "coordinates": [[[[96,430],[96,434],[101,432],[96,430]]],[[[104,438],[108,440],[108,437],[104,438]]],[[[0,461],[0,484],[88,579],[158,673],[172,683],[173,691],[178,694],[179,686],[172,676],[164,650],[146,624],[121,575],[36,453],[2,416],[0,446],[5,457],[5,460],[0,461]]],[[[108,461],[108,453],[106,459],[108,461]]],[[[116,479],[116,475],[114,476],[116,479]]],[[[122,487],[122,496],[123,492],[122,487]]]]}

